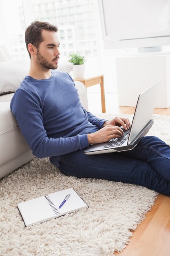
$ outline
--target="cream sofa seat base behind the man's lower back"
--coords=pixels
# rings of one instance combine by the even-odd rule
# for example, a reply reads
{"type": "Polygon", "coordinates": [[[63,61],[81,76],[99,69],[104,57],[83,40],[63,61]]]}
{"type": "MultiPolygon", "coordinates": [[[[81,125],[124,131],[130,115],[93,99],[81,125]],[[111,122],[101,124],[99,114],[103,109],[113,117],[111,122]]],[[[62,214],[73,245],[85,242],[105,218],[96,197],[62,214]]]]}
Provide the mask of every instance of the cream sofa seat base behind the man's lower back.
{"type": "Polygon", "coordinates": [[[0,178],[34,157],[9,105],[0,102],[0,178]]]}

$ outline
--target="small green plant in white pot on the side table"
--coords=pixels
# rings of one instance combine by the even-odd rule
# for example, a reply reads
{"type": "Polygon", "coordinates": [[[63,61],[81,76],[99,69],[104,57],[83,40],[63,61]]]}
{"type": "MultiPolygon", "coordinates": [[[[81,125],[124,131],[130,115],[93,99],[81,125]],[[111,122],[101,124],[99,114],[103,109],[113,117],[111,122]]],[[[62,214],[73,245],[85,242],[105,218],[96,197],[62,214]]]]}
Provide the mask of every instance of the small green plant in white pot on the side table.
{"type": "Polygon", "coordinates": [[[77,53],[73,53],[70,55],[68,60],[69,62],[73,63],[73,78],[83,78],[84,77],[84,63],[86,62],[85,57],[81,56],[77,53]]]}

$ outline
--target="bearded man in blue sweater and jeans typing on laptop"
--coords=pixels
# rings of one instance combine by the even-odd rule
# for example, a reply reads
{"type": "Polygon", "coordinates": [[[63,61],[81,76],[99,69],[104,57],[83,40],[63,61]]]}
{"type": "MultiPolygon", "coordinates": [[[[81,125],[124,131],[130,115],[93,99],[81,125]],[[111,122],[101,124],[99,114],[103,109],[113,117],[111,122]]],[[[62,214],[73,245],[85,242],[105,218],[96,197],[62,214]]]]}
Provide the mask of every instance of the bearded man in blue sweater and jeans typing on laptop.
{"type": "Polygon", "coordinates": [[[50,157],[65,175],[139,184],[170,195],[170,146],[157,137],[144,137],[133,150],[121,153],[84,154],[90,144],[121,137],[120,126],[130,128],[129,120],[93,116],[82,107],[71,77],[51,72],[60,56],[57,27],[32,22],[25,40],[31,66],[11,110],[33,155],[50,157]]]}

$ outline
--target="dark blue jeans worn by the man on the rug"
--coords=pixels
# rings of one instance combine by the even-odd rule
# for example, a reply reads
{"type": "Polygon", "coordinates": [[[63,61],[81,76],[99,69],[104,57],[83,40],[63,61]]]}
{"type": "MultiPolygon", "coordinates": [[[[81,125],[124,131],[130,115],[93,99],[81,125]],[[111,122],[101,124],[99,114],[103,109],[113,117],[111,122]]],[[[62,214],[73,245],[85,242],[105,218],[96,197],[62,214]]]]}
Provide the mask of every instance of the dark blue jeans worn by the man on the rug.
{"type": "Polygon", "coordinates": [[[133,150],[121,153],[85,155],[83,151],[62,155],[61,173],[138,184],[170,196],[170,146],[159,138],[146,136],[133,150]]]}

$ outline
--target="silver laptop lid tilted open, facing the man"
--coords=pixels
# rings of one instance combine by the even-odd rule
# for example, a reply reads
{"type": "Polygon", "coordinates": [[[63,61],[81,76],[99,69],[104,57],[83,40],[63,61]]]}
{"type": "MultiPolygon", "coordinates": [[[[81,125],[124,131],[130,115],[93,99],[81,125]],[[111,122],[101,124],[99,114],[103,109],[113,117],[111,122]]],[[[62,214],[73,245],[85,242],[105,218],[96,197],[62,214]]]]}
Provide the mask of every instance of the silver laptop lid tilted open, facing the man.
{"type": "Polygon", "coordinates": [[[132,143],[132,141],[139,134],[139,132],[141,132],[141,130],[152,119],[152,114],[155,108],[155,103],[161,83],[162,77],[159,78],[155,83],[150,85],[150,87],[148,87],[144,92],[139,95],[135,114],[132,120],[132,128],[128,138],[128,145],[132,143]]]}

